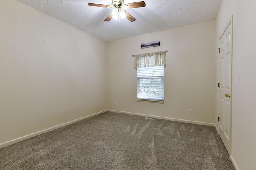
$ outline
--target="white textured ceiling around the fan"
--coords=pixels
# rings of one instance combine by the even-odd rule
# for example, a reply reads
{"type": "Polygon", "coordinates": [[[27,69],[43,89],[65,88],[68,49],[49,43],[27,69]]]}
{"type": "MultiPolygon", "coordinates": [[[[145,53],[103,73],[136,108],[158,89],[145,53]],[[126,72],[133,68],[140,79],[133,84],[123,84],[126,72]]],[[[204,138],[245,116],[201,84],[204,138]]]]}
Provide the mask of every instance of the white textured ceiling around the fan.
{"type": "MultiPolygon", "coordinates": [[[[144,0],[146,7],[126,9],[136,21],[105,18],[111,0],[17,0],[104,41],[113,41],[173,27],[215,20],[222,0],[144,0]]],[[[141,0],[124,0],[124,4],[141,0]]]]}

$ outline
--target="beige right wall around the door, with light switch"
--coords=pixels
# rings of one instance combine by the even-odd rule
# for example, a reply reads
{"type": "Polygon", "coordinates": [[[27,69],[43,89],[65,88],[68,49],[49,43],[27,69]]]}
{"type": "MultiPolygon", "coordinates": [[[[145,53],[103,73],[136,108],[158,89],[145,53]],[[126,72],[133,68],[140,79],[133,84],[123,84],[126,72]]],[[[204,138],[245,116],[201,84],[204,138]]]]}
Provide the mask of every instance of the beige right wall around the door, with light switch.
{"type": "MultiPolygon", "coordinates": [[[[216,45],[233,14],[231,159],[237,169],[256,169],[256,1],[223,0],[216,19],[216,45]],[[239,86],[235,86],[239,77],[239,86]]],[[[218,74],[218,54],[216,54],[218,74]]],[[[216,78],[216,83],[218,79],[216,78]]],[[[217,92],[217,89],[216,89],[217,92]]],[[[218,117],[218,98],[216,95],[218,117]]],[[[218,122],[215,122],[218,126],[218,122]]]]}

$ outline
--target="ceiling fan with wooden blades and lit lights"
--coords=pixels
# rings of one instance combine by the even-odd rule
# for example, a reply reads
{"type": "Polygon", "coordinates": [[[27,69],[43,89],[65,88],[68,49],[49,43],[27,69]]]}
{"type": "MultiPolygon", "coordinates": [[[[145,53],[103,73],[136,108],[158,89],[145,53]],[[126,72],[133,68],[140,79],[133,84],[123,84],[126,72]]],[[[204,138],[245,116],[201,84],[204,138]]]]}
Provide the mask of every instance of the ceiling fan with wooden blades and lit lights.
{"type": "Polygon", "coordinates": [[[120,21],[120,17],[121,17],[121,18],[127,18],[131,22],[135,21],[136,19],[131,14],[129,14],[125,10],[122,10],[121,8],[128,9],[128,8],[138,8],[138,7],[146,6],[144,1],[124,4],[124,0],[112,0],[112,4],[113,6],[94,4],[94,3],[89,3],[88,5],[98,6],[103,8],[114,8],[114,10],[112,10],[112,12],[107,16],[107,18],[104,21],[110,21],[111,18],[120,21]]]}

